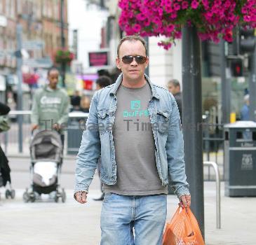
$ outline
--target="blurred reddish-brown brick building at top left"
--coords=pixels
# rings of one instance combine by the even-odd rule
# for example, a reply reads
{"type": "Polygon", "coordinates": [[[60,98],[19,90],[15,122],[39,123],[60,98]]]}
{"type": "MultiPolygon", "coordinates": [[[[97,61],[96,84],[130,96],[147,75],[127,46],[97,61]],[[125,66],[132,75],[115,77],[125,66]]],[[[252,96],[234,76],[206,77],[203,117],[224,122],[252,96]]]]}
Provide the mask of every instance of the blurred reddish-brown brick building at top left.
{"type": "MultiPolygon", "coordinates": [[[[61,47],[61,0],[0,0],[0,73],[15,72],[16,26],[22,25],[22,41],[42,41],[43,49],[31,49],[30,58],[50,57],[61,47]]],[[[64,36],[68,46],[67,0],[64,1],[64,36]]]]}

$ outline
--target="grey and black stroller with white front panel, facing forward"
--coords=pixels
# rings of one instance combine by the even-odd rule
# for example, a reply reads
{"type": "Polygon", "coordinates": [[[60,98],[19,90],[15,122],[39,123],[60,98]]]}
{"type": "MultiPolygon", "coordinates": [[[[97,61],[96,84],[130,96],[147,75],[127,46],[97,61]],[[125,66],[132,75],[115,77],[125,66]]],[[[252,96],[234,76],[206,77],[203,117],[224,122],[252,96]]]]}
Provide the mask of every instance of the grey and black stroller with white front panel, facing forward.
{"type": "Polygon", "coordinates": [[[30,188],[23,194],[25,202],[34,202],[37,195],[55,192],[54,200],[66,201],[64,188],[60,191],[62,165],[62,141],[54,130],[41,130],[34,134],[30,143],[30,188]]]}

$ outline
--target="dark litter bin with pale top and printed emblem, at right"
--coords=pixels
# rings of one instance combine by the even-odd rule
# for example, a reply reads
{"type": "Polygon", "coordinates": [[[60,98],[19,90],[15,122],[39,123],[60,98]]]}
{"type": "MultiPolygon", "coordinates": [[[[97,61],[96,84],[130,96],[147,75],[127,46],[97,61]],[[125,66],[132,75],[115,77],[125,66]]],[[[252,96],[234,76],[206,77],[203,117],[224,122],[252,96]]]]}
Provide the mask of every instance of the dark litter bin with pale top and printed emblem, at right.
{"type": "Polygon", "coordinates": [[[256,123],[238,121],[224,126],[224,193],[256,196],[256,123]]]}

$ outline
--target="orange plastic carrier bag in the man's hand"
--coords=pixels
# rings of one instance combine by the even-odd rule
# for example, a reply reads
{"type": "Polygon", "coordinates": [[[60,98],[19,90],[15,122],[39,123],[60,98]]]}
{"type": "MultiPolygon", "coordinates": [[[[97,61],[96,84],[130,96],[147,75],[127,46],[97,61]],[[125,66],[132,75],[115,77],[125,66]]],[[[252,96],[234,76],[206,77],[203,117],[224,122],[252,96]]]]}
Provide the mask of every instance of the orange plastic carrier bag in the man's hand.
{"type": "Polygon", "coordinates": [[[166,225],[163,245],[205,245],[196,218],[189,208],[177,208],[166,225]]]}

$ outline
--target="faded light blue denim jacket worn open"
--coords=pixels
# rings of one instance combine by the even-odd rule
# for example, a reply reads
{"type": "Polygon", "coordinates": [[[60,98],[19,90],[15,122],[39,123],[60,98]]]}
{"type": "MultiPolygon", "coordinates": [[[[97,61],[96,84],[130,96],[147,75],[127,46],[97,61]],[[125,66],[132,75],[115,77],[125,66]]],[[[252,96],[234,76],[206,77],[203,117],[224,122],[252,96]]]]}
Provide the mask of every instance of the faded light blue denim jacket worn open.
{"type": "MultiPolygon", "coordinates": [[[[114,185],[116,160],[112,127],[116,112],[116,91],[121,85],[122,74],[116,83],[95,92],[83,132],[81,146],[76,158],[76,183],[74,193],[88,192],[97,161],[101,155],[100,179],[114,185]]],[[[151,100],[148,111],[155,143],[156,169],[163,186],[168,185],[168,176],[177,197],[189,195],[185,174],[184,144],[180,114],[175,99],[168,90],[150,82],[151,100]],[[159,125],[159,127],[153,127],[159,125]],[[167,125],[167,127],[166,127],[167,125]]]]}

